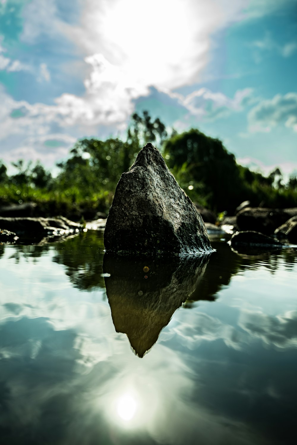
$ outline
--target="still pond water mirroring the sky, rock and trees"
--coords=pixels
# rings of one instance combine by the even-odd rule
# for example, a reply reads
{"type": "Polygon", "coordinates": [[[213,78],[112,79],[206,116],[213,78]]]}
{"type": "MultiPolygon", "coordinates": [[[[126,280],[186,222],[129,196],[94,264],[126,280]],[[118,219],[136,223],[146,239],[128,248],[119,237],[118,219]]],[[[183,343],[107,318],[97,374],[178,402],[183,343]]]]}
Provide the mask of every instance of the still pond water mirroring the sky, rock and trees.
{"type": "Polygon", "coordinates": [[[293,443],[297,250],[212,247],[123,261],[99,231],[0,246],[0,443],[293,443]]]}

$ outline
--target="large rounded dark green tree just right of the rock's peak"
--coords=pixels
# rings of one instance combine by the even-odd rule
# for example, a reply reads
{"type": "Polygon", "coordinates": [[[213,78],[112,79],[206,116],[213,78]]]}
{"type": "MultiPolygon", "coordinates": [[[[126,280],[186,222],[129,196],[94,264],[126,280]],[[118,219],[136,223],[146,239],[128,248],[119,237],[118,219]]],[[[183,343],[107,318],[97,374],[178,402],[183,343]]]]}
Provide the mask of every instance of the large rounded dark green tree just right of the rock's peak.
{"type": "Polygon", "coordinates": [[[232,213],[245,190],[235,156],[219,139],[191,129],[167,140],[164,154],[171,169],[186,170],[193,194],[195,184],[199,184],[198,201],[202,194],[212,209],[232,213]]]}

